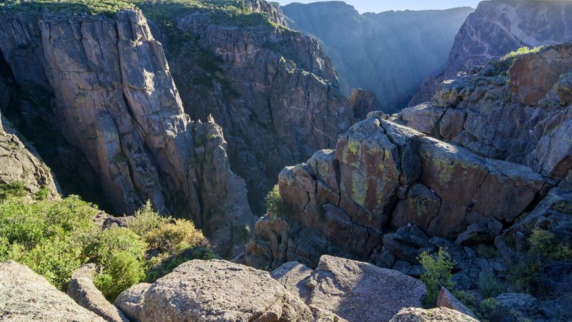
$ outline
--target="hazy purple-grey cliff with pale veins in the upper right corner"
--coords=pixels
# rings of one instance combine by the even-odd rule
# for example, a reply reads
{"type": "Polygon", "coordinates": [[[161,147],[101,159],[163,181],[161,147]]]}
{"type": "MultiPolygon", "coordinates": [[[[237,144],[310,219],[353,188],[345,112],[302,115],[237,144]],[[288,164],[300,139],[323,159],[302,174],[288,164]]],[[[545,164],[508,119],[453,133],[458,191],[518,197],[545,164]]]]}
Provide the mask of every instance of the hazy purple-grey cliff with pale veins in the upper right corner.
{"type": "Polygon", "coordinates": [[[426,79],[410,106],[427,102],[444,79],[513,50],[572,40],[570,1],[482,1],[455,37],[443,75],[426,79]]]}

